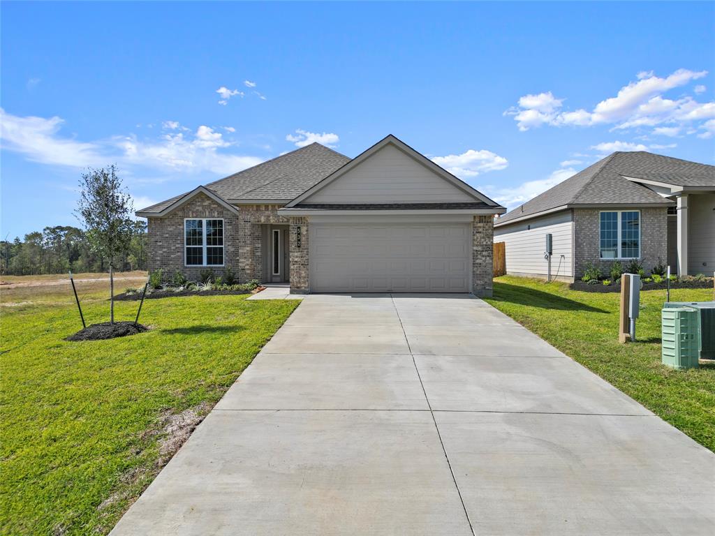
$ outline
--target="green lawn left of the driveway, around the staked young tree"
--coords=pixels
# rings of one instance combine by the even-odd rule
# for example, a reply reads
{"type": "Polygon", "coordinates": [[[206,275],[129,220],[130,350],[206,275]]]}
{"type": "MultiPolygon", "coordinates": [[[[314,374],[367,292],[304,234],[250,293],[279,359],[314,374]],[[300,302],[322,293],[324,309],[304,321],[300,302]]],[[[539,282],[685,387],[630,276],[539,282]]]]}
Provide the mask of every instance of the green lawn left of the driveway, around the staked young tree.
{"type": "MultiPolygon", "coordinates": [[[[108,319],[108,287],[79,283],[88,324],[108,319]]],[[[297,305],[155,299],[147,333],[66,342],[82,327],[69,287],[32,288],[0,289],[3,535],[109,532],[180,444],[177,415],[195,425],[297,305]]],[[[137,305],[117,302],[117,319],[137,305]]]]}

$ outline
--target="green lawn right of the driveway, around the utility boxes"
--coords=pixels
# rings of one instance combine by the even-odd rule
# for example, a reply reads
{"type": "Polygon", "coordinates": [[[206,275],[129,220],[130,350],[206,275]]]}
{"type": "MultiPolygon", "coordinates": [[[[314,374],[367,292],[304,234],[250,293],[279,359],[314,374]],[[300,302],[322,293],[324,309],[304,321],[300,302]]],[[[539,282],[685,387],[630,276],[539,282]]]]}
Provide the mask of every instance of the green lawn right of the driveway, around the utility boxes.
{"type": "MultiPolygon", "coordinates": [[[[664,290],[641,292],[636,342],[619,344],[619,299],[505,276],[487,301],[715,452],[715,364],[684,371],[661,364],[664,290]]],[[[673,302],[711,299],[712,289],[671,290],[673,302]]]]}

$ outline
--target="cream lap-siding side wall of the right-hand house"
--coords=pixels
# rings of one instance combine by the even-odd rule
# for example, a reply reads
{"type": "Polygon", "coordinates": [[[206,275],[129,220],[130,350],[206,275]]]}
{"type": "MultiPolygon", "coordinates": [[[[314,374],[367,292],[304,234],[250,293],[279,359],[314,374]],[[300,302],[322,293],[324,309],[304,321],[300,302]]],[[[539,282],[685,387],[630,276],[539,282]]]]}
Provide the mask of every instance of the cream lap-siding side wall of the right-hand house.
{"type": "Polygon", "coordinates": [[[548,233],[553,239],[551,276],[573,278],[573,222],[570,210],[496,227],[494,242],[506,242],[506,272],[546,277],[548,263],[544,252],[548,233]]]}

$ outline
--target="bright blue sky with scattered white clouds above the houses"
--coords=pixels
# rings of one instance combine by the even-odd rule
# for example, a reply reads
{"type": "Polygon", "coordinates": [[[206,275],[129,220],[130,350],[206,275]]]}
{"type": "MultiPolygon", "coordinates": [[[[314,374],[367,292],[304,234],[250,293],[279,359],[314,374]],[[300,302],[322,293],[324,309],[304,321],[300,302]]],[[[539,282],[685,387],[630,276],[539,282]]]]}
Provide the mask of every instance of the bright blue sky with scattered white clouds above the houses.
{"type": "Polygon", "coordinates": [[[613,150],[715,156],[715,4],[3,2],[1,238],[395,134],[515,207],[613,150]]]}

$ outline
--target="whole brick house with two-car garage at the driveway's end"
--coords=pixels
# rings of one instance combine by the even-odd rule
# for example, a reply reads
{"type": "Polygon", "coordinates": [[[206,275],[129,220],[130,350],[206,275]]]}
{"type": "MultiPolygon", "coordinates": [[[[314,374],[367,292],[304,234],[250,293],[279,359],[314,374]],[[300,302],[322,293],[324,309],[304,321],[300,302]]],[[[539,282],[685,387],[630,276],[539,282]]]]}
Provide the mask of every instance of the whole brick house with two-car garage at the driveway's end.
{"type": "Polygon", "coordinates": [[[139,210],[149,270],[307,292],[492,290],[504,207],[394,136],[355,159],[314,143],[139,210]]]}

